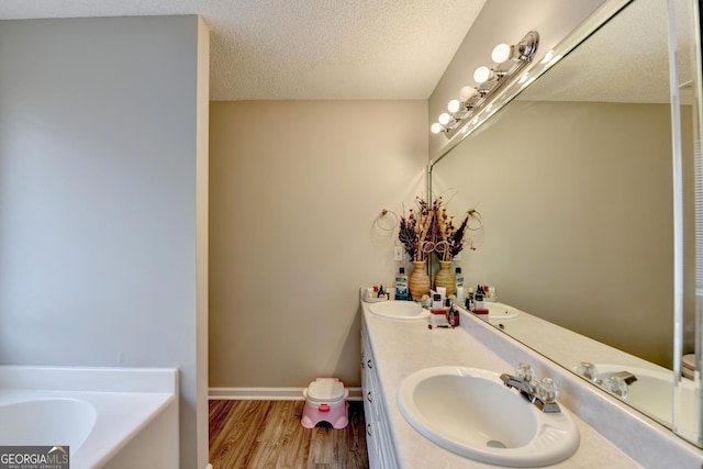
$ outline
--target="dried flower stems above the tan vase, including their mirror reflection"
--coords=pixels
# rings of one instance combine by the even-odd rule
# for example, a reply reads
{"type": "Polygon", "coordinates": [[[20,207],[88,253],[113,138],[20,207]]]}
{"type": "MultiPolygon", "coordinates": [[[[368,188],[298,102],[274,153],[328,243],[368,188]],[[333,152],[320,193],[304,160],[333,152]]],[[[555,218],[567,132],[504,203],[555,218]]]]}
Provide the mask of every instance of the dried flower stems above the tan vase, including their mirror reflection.
{"type": "MultiPolygon", "coordinates": [[[[432,202],[415,198],[416,209],[410,209],[408,217],[400,219],[398,238],[412,260],[427,260],[435,253],[439,260],[451,260],[464,249],[465,234],[469,230],[469,219],[478,220],[481,215],[473,209],[467,211],[458,227],[454,225],[454,216],[443,206],[442,197],[432,202]]],[[[473,249],[473,246],[470,247],[473,249]]]]}

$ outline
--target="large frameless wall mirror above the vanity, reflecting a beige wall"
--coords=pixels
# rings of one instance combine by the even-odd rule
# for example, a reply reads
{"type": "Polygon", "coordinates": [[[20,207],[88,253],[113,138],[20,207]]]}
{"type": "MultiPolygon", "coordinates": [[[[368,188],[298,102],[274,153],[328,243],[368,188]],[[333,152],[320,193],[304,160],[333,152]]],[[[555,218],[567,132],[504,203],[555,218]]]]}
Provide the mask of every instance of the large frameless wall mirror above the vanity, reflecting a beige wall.
{"type": "Polygon", "coordinates": [[[696,2],[671,3],[670,16],[667,1],[606,2],[557,49],[561,60],[450,142],[431,190],[481,213],[476,250],[455,265],[523,313],[502,331],[572,371],[636,370],[633,391],[663,377],[660,402],[618,397],[701,446],[700,375],[679,376],[701,340],[701,44],[696,2]]]}

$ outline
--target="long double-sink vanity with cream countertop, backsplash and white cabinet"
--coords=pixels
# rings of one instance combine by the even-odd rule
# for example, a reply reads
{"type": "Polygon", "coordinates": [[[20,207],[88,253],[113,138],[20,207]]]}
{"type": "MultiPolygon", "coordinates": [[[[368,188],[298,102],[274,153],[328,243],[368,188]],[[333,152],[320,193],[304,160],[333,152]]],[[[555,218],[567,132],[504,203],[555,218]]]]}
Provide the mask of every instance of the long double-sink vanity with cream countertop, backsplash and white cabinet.
{"type": "Polygon", "coordinates": [[[460,310],[459,327],[428,328],[427,312],[412,302],[361,302],[361,310],[371,468],[701,467],[700,449],[489,321],[460,310]],[[518,362],[554,379],[558,411],[543,412],[505,386],[518,362]]]}

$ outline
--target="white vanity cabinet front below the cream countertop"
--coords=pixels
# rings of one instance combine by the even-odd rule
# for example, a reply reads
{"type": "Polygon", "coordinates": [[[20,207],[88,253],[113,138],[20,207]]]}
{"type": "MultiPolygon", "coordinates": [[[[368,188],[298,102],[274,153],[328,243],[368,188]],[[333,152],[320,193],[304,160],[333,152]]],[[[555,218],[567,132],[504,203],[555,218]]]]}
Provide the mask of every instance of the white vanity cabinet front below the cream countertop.
{"type": "Polygon", "coordinates": [[[361,328],[361,389],[366,420],[366,447],[370,469],[399,468],[388,425],[388,411],[380,389],[373,350],[366,330],[361,328]]]}

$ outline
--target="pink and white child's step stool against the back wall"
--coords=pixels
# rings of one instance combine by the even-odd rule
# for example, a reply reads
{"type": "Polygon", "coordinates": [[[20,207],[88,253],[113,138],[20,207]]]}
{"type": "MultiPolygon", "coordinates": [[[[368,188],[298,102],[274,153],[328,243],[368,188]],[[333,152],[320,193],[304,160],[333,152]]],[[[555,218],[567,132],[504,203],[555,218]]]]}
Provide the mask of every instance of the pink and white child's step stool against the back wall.
{"type": "Polygon", "coordinates": [[[313,428],[320,422],[327,422],[334,428],[345,428],[349,423],[347,416],[347,397],[349,390],[337,378],[317,378],[303,390],[305,406],[300,423],[305,428],[313,428]]]}

